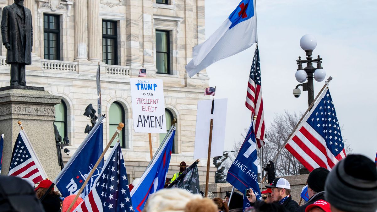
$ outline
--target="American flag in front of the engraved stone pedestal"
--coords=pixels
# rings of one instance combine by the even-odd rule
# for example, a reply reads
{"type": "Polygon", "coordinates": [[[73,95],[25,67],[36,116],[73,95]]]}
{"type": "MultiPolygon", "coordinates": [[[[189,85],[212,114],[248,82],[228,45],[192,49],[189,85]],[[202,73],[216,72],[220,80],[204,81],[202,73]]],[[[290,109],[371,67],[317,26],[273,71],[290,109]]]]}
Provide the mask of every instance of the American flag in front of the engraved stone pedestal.
{"type": "Polygon", "coordinates": [[[47,178],[25,130],[20,131],[14,144],[8,175],[28,178],[34,183],[47,178]]]}

